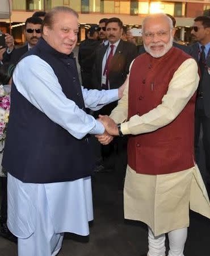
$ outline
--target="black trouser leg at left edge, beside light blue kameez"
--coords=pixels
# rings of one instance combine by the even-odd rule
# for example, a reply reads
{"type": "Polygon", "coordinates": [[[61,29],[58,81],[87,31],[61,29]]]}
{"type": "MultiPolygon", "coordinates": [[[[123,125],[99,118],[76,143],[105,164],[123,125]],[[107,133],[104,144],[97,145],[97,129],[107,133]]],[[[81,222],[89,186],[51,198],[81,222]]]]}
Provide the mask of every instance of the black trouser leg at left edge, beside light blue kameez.
{"type": "Polygon", "coordinates": [[[0,222],[7,222],[7,177],[1,177],[1,217],[0,222]]]}

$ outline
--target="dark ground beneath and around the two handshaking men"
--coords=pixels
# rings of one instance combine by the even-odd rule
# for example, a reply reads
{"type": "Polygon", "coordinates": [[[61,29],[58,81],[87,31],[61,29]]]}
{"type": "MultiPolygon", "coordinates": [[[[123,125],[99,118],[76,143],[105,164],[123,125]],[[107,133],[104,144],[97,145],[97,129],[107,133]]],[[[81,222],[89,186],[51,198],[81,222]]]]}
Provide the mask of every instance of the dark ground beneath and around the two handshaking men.
{"type": "MultiPolygon", "coordinates": [[[[93,182],[94,222],[89,237],[65,237],[59,256],[140,256],[147,249],[146,226],[123,218],[123,194],[116,175],[97,174],[93,182]]],[[[191,212],[186,256],[209,256],[210,221],[191,212]]],[[[0,238],[0,256],[16,256],[12,242],[0,238]]],[[[30,256],[30,254],[28,254],[30,256]]]]}

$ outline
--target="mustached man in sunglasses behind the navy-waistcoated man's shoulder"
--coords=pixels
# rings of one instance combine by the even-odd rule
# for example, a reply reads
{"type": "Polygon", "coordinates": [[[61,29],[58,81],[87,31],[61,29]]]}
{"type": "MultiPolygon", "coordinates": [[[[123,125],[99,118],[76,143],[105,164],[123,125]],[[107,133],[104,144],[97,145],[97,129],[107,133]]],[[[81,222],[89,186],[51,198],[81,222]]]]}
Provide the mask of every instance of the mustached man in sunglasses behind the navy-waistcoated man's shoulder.
{"type": "Polygon", "coordinates": [[[5,52],[4,58],[7,59],[7,62],[17,64],[24,53],[36,45],[41,37],[41,23],[42,19],[36,16],[26,20],[25,35],[27,44],[20,48],[12,49],[11,53],[5,52]]]}

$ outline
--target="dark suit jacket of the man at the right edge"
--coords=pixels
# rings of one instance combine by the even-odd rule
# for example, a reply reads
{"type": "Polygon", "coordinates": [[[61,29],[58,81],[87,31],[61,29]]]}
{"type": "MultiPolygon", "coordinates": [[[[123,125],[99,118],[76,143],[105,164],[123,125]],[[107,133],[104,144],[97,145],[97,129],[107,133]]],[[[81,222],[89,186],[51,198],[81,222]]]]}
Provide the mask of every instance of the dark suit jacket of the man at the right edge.
{"type": "MultiPolygon", "coordinates": [[[[194,59],[197,62],[199,62],[199,44],[195,43],[195,44],[192,44],[192,46],[190,47],[191,47],[191,56],[194,57],[194,59]]],[[[199,83],[199,86],[202,86],[205,115],[207,115],[207,117],[210,117],[210,104],[209,104],[210,74],[208,73],[208,69],[210,69],[210,50],[207,54],[206,67],[203,73],[203,78],[202,80],[200,80],[200,83],[199,83]]]]}

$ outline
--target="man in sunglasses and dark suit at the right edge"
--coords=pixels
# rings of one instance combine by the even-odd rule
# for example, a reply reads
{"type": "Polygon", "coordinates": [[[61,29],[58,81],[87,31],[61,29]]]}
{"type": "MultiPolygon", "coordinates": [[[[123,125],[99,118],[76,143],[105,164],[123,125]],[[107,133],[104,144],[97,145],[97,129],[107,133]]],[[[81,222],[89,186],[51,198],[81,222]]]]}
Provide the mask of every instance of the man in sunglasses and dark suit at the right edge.
{"type": "Polygon", "coordinates": [[[207,190],[210,195],[210,17],[198,16],[194,19],[191,34],[197,41],[191,46],[192,57],[200,67],[200,82],[195,105],[195,153],[199,159],[200,127],[203,127],[205,168],[207,170],[207,190]]]}

